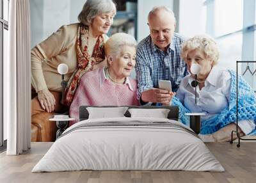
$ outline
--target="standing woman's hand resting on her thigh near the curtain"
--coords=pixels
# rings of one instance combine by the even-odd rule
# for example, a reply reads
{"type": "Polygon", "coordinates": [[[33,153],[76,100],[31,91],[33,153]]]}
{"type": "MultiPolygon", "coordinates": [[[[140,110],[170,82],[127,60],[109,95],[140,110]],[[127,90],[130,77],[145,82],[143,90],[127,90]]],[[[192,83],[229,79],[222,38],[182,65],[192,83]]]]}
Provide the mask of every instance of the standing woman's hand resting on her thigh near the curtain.
{"type": "Polygon", "coordinates": [[[55,106],[55,99],[54,96],[52,95],[49,90],[40,90],[37,92],[38,93],[38,100],[41,104],[41,107],[48,113],[51,113],[54,111],[54,106],[55,106]]]}

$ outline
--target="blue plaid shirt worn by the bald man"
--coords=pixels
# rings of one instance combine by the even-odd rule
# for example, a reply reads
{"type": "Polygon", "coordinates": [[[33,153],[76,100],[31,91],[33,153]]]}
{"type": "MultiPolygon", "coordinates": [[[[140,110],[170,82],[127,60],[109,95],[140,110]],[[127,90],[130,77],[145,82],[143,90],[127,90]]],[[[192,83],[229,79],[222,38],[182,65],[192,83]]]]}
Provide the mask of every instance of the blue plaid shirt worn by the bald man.
{"type": "Polygon", "coordinates": [[[173,92],[178,90],[180,80],[188,75],[186,63],[180,58],[183,42],[184,38],[174,33],[167,52],[163,52],[154,45],[150,35],[141,40],[135,65],[139,99],[143,91],[158,88],[161,79],[171,81],[173,92]]]}

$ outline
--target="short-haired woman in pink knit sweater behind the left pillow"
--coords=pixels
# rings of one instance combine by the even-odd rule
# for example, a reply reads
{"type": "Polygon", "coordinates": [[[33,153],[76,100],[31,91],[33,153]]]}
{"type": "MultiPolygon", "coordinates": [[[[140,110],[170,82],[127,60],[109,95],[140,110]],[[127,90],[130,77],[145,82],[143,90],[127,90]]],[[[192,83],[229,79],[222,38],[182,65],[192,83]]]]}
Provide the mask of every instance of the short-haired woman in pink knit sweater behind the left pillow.
{"type": "Polygon", "coordinates": [[[69,110],[71,118],[79,118],[79,106],[139,106],[137,82],[129,77],[136,63],[136,40],[131,35],[116,33],[106,42],[105,52],[108,67],[81,77],[69,110]]]}

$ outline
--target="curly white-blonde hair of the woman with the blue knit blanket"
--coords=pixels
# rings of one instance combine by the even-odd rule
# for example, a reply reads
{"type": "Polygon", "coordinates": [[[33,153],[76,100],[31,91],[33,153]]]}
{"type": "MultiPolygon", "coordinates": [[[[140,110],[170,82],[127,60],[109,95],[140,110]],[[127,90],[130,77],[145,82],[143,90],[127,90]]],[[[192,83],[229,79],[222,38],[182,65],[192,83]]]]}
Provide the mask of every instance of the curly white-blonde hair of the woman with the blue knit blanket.
{"type": "Polygon", "coordinates": [[[189,38],[182,45],[181,57],[186,60],[188,53],[198,49],[205,53],[206,58],[212,60],[212,65],[218,63],[220,53],[216,42],[209,35],[196,35],[189,38]]]}

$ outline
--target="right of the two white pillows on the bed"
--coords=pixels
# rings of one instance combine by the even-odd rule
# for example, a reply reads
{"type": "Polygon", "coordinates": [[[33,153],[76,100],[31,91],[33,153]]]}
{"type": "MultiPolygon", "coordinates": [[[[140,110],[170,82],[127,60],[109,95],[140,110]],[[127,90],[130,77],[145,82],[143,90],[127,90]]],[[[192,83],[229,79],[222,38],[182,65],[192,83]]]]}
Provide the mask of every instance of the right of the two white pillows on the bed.
{"type": "Polygon", "coordinates": [[[128,109],[133,117],[167,118],[170,109],[128,109]]]}

